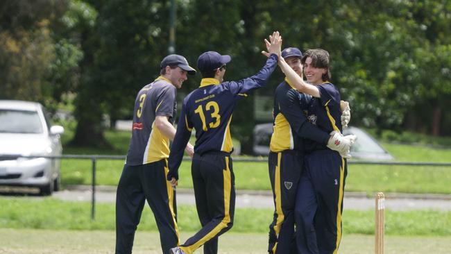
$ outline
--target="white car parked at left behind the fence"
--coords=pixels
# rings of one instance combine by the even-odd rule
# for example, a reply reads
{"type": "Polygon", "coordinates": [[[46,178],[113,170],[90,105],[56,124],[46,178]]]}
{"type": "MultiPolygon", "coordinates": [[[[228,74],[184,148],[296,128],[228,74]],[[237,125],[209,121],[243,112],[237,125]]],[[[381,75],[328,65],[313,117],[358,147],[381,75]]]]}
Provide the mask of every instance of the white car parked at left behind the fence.
{"type": "Polygon", "coordinates": [[[60,160],[21,156],[60,156],[62,126],[51,126],[44,107],[30,101],[0,100],[0,185],[60,189],[60,160]]]}

